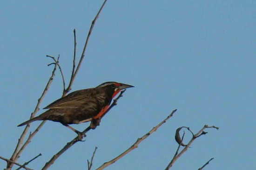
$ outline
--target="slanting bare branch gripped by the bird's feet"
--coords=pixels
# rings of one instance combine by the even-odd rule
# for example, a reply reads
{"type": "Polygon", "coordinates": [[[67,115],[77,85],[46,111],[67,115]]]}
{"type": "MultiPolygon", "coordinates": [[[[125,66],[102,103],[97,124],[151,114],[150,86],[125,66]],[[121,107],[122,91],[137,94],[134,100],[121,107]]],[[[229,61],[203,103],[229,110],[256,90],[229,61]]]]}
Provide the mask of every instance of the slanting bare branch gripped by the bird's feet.
{"type": "MultiPolygon", "coordinates": [[[[114,107],[116,105],[117,100],[121,97],[122,93],[120,93],[118,95],[118,97],[114,100],[114,102],[111,104],[111,106],[109,107],[110,109],[112,107],[114,107]]],[[[109,111],[110,109],[108,109],[107,111],[109,111]]],[[[91,126],[88,126],[83,132],[83,136],[85,136],[85,134],[91,130],[91,126]]],[[[64,153],[65,151],[67,151],[71,146],[73,146],[76,142],[82,141],[80,136],[75,137],[73,140],[71,140],[70,142],[68,142],[60,151],[58,151],[45,165],[41,170],[47,170],[52,164],[54,164],[54,161],[61,156],[62,153],[64,153]]]]}

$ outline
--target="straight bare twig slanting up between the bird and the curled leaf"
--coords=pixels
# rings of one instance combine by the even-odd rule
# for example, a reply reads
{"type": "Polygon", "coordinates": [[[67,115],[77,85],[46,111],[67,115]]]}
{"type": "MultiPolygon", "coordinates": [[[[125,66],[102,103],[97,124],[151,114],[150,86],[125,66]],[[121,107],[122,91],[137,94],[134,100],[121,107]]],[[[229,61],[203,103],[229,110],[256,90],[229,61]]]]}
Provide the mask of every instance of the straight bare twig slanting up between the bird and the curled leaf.
{"type": "Polygon", "coordinates": [[[142,136],[141,138],[137,139],[137,141],[131,145],[126,151],[122,152],[119,156],[115,157],[114,159],[105,162],[104,164],[102,164],[99,168],[97,168],[96,170],[103,170],[104,168],[106,168],[107,166],[114,164],[117,160],[119,160],[121,157],[125,156],[126,154],[128,154],[130,151],[134,150],[135,148],[138,147],[138,145],[146,138],[148,138],[149,135],[151,135],[153,132],[155,132],[160,126],[162,126],[163,123],[165,123],[170,117],[173,116],[173,114],[176,112],[177,109],[175,109],[174,111],[172,111],[171,114],[168,115],[168,117],[166,119],[164,119],[162,122],[160,122],[157,126],[153,127],[148,133],[146,133],[144,136],[142,136]]]}

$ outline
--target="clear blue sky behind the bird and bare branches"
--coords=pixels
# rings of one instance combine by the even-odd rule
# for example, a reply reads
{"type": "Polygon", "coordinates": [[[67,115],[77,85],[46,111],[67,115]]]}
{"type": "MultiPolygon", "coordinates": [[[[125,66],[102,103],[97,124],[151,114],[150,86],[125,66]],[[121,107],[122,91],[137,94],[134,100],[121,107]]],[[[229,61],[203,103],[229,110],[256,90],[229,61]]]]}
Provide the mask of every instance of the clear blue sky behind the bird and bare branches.
{"type": "MultiPolygon", "coordinates": [[[[9,158],[52,72],[46,55],[60,55],[67,80],[102,0],[0,2],[0,155],[9,158]]],[[[94,27],[86,57],[72,90],[117,81],[134,85],[88,132],[52,165],[53,170],[86,170],[119,155],[168,114],[157,132],[108,170],[164,169],[177,144],[176,128],[203,125],[220,129],[195,140],[173,169],[256,168],[256,2],[254,0],[109,0],[94,27]]],[[[67,81],[66,80],[66,81],[67,81]]],[[[40,109],[62,93],[59,72],[40,109]]],[[[42,113],[40,110],[39,113],[42,113]]],[[[31,130],[40,122],[34,122],[31,130]]],[[[83,130],[88,123],[74,125],[83,130]]],[[[185,141],[189,140],[187,133],[185,141]]],[[[20,164],[42,153],[28,167],[40,169],[75,137],[48,121],[21,155],[20,164]]],[[[5,167],[0,160],[0,168],[5,167]]]]}

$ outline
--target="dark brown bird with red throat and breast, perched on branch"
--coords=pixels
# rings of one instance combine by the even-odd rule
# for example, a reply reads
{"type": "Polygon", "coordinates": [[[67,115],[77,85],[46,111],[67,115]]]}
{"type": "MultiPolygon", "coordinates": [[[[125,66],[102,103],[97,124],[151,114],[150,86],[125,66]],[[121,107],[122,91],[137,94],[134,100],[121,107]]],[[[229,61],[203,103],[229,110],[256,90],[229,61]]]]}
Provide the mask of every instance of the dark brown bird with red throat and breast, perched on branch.
{"type": "Polygon", "coordinates": [[[27,125],[36,120],[52,120],[60,122],[80,134],[81,132],[68,125],[88,121],[97,122],[95,120],[100,120],[101,116],[108,110],[115,95],[122,89],[132,87],[134,86],[119,82],[104,82],[95,88],[74,91],[49,104],[44,108],[49,109],[46,112],[18,126],[27,125]]]}

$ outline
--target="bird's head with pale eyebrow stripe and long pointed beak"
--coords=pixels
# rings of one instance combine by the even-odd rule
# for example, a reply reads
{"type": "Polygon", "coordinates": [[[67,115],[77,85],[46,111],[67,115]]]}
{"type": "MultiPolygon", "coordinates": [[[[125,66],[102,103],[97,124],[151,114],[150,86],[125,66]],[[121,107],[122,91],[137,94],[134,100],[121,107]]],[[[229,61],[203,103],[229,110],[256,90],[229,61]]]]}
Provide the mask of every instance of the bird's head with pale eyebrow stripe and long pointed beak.
{"type": "Polygon", "coordinates": [[[120,82],[104,82],[101,85],[97,86],[97,88],[107,88],[112,91],[112,98],[115,97],[122,89],[125,88],[134,88],[132,85],[120,83],[120,82]]]}

